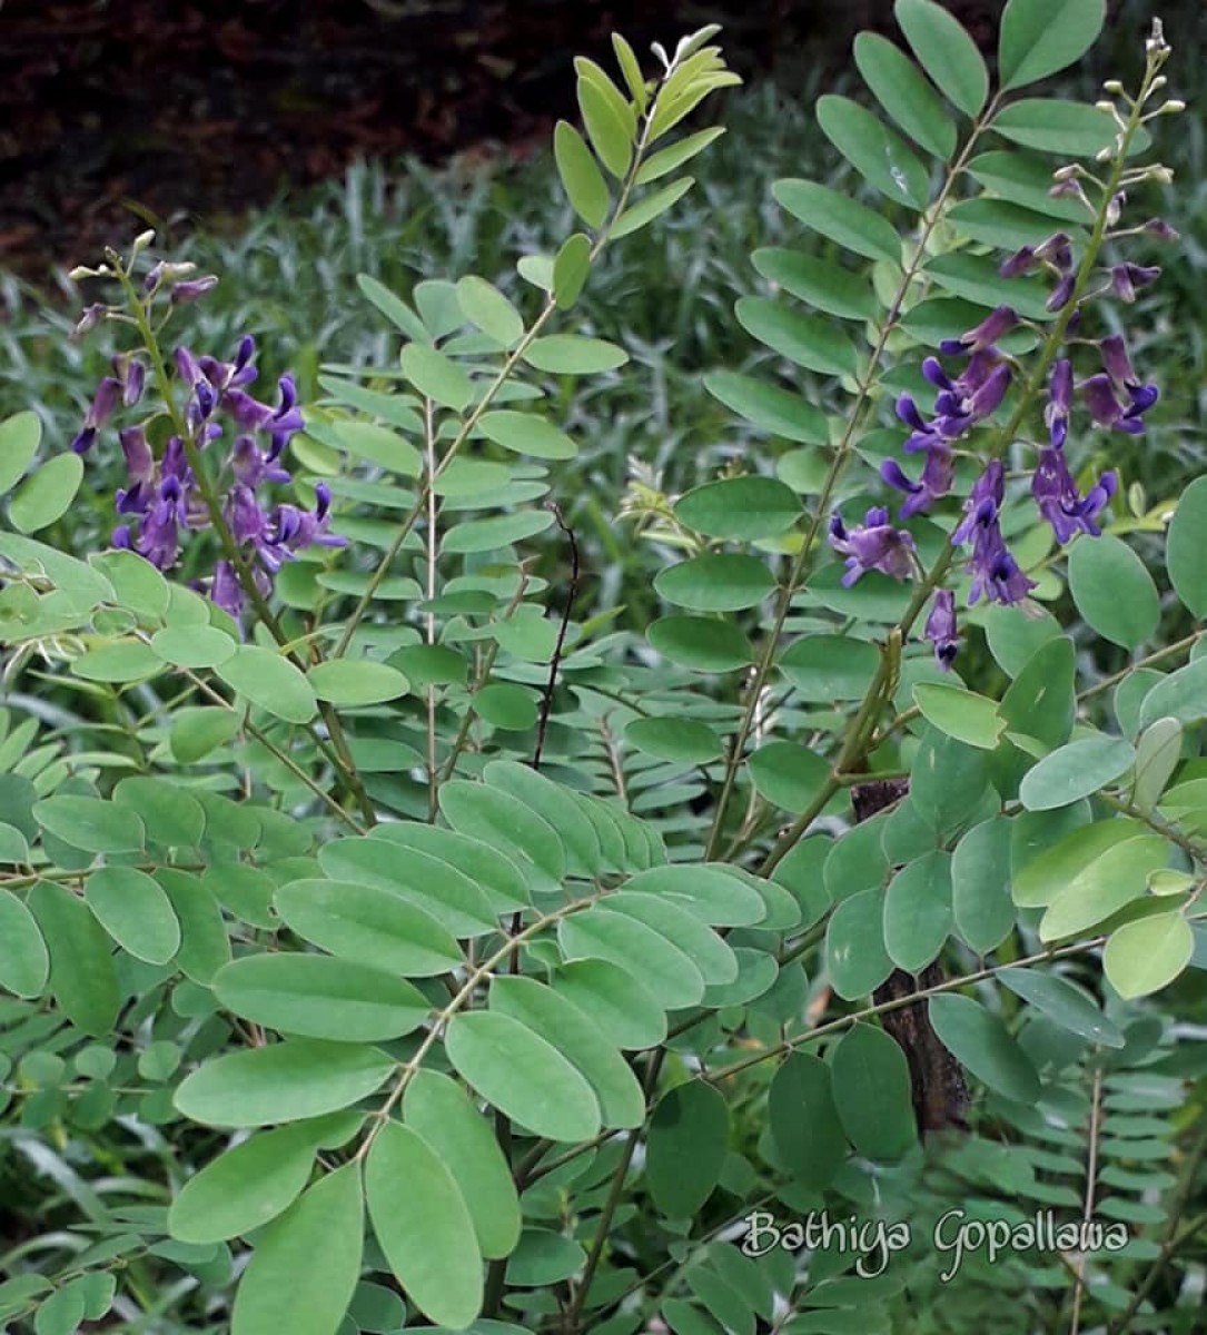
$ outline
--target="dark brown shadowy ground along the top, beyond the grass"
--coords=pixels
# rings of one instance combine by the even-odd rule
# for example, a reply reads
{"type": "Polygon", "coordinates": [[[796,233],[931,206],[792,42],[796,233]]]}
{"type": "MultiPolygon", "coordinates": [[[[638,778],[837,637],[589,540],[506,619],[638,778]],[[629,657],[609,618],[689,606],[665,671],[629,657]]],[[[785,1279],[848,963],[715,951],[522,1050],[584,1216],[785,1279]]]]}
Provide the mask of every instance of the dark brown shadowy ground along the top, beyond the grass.
{"type": "MultiPolygon", "coordinates": [[[[991,56],[1001,4],[949,8],[991,56]]],[[[1095,59],[1151,12],[1112,0],[1095,59]]],[[[1162,15],[1179,55],[1200,41],[1202,0],[1162,15]]],[[[893,31],[889,0],[0,0],[0,268],[36,283],[136,228],[228,227],[358,155],[525,156],[574,116],[574,55],[610,68],[613,31],[646,59],[705,23],[789,91],[893,31]]]]}

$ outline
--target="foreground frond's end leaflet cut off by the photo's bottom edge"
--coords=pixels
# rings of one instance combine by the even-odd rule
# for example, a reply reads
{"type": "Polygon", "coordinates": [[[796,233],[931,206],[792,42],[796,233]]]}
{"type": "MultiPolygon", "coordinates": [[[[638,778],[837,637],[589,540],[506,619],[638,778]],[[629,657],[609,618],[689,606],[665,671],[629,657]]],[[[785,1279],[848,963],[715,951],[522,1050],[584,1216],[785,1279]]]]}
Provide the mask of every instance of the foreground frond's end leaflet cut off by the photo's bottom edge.
{"type": "Polygon", "coordinates": [[[360,1278],[360,1164],[320,1177],[267,1226],[239,1282],[231,1335],[335,1335],[360,1278]]]}

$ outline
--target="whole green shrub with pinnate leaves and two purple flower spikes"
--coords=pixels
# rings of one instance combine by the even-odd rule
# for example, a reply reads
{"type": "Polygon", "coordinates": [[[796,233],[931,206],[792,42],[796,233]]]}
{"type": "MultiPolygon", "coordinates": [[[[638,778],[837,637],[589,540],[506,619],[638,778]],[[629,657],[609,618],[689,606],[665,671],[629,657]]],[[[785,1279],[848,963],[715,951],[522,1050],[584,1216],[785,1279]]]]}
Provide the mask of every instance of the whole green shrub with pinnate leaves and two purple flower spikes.
{"type": "Polygon", "coordinates": [[[772,358],[706,376],[768,457],[616,506],[648,626],[575,618],[545,400],[628,362],[566,322],[721,134],[681,129],[716,29],[579,60],[582,230],[522,294],[362,278],[398,356],[318,402],[175,346],[218,279],[150,234],[77,271],[112,374],[71,445],[0,425],[0,1077],[47,1216],[0,1319],[1194,1328],[1207,483],[1147,510],[1088,457],[1159,403],[1119,319],[1176,239],[1132,218],[1170,48],[1087,107],[1016,93],[1102,0],[1009,0],[992,83],[896,15],[915,60],[855,56],[897,128],[820,99],[857,184],[772,187],[818,240],[754,252],[772,358]],[[108,547],[32,537],[117,447],[108,547]]]}

